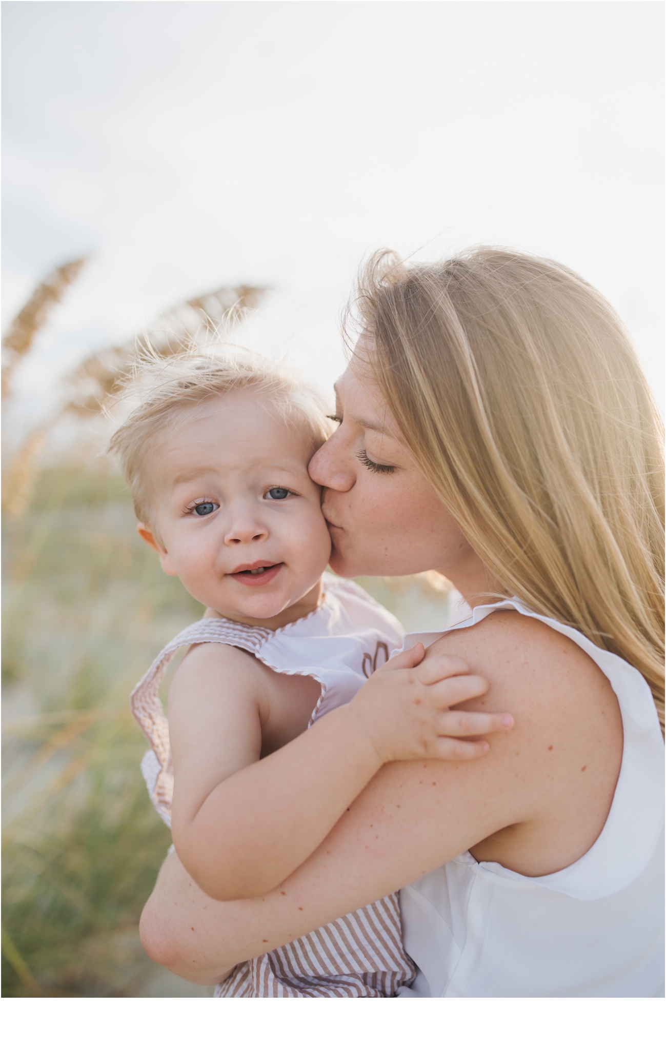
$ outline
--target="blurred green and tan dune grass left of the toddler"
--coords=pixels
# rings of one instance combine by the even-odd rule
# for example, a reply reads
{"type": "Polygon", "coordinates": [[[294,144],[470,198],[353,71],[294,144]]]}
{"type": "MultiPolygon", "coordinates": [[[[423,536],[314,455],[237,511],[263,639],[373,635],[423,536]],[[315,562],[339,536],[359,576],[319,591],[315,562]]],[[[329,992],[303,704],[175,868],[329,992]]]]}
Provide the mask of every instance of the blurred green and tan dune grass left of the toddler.
{"type": "Polygon", "coordinates": [[[115,476],[44,471],[4,532],[2,994],[141,994],[170,836],[127,698],[201,607],[137,541],[115,476]]]}

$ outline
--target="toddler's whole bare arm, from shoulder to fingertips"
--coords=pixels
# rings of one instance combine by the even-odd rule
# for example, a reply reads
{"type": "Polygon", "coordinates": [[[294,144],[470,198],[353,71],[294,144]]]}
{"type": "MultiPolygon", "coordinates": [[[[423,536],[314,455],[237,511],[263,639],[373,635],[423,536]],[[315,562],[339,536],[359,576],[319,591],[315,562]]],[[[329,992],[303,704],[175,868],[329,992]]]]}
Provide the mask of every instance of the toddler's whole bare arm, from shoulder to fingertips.
{"type": "Polygon", "coordinates": [[[234,662],[215,649],[227,647],[201,646],[183,662],[169,716],[175,849],[216,900],[278,886],[386,762],[481,757],[490,746],[477,738],[513,724],[505,714],[450,711],[482,696],[487,680],[453,656],[423,659],[417,644],[375,672],[351,704],[257,761],[261,679],[251,680],[245,654],[234,662]]]}

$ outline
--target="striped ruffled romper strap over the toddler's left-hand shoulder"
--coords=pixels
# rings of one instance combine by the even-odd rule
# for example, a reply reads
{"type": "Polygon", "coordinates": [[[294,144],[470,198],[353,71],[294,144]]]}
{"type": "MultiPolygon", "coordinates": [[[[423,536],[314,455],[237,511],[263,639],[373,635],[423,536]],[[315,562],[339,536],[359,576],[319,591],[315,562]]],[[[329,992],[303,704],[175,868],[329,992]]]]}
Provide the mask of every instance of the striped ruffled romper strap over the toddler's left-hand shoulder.
{"type": "Polygon", "coordinates": [[[231,620],[212,616],[199,620],[165,646],[132,690],[129,698],[131,713],[141,726],[151,749],[144,755],[141,772],[152,804],[169,827],[173,797],[173,761],[169,743],[169,723],[158,695],[167,667],[183,646],[202,645],[207,642],[235,646],[256,656],[272,633],[265,627],[250,627],[231,620]]]}

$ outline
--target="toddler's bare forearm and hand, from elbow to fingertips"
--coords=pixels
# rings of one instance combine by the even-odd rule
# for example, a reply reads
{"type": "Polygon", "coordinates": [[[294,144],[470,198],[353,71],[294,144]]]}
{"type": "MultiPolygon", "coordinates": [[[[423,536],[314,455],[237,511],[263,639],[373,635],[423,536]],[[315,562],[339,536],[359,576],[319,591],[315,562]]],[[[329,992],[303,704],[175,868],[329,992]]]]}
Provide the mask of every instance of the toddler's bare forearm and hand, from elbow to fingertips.
{"type": "MultiPolygon", "coordinates": [[[[504,715],[455,712],[487,681],[453,657],[418,666],[422,647],[395,657],[357,697],[272,755],[227,776],[200,804],[174,806],[183,864],[217,900],[277,886],[326,838],[384,762],[480,757],[477,737],[506,730],[504,715]]],[[[178,773],[178,771],[176,771],[178,773]]]]}

